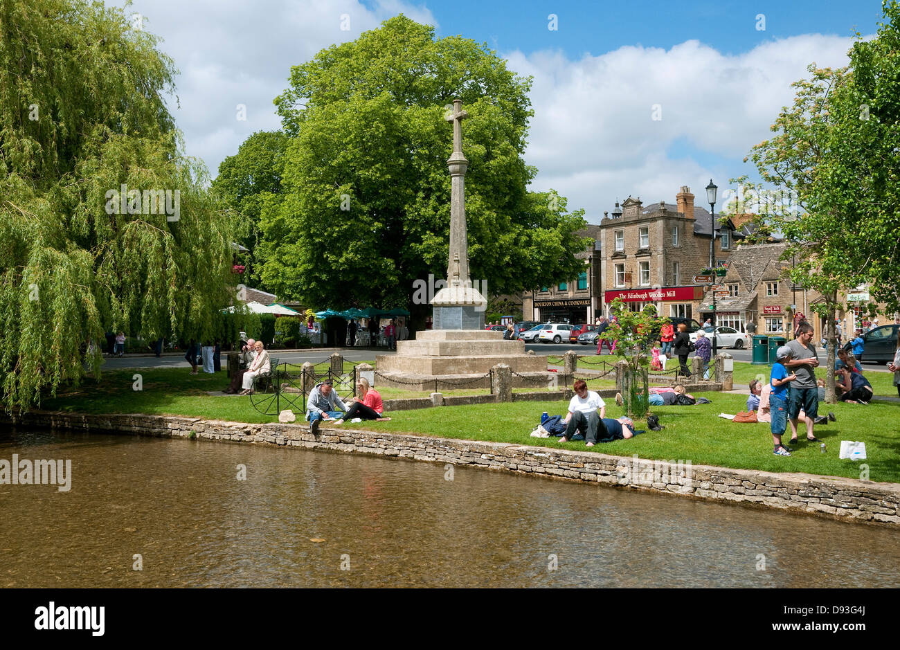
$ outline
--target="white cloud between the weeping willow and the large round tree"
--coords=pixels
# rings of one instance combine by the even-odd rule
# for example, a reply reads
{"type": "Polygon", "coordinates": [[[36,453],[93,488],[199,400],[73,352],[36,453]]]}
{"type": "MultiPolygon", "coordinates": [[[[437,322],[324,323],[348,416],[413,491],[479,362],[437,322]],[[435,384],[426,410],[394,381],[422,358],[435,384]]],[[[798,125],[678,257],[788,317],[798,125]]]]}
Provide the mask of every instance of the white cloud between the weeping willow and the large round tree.
{"type": "Polygon", "coordinates": [[[135,0],[126,9],[134,13],[163,38],[160,50],[180,70],[180,108],[173,99],[170,109],[187,154],[202,158],[213,177],[247,136],[281,126],[272,101],[287,88],[291,66],[396,14],[437,25],[427,8],[401,0],[372,8],[357,0],[135,0]],[[238,120],[238,104],[246,105],[246,121],[238,120]]]}

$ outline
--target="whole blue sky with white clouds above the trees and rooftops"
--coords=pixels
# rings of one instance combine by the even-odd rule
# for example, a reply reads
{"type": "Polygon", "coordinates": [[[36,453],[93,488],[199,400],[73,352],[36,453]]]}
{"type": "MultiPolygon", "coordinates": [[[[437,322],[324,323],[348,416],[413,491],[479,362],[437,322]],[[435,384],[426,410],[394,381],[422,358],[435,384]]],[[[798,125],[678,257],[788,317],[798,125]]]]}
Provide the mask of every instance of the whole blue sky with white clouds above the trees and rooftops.
{"type": "Polygon", "coordinates": [[[180,108],[170,104],[211,176],[251,133],[279,128],[273,98],[322,48],[400,13],[438,37],[487,42],[534,77],[532,189],[554,188],[598,222],[629,194],[675,203],[689,185],[699,200],[710,177],[724,188],[753,176],[743,158],[793,101],[790,84],[813,61],[846,65],[853,32],[876,32],[881,3],[134,0],[126,13],[146,18],[180,68],[180,108]]]}

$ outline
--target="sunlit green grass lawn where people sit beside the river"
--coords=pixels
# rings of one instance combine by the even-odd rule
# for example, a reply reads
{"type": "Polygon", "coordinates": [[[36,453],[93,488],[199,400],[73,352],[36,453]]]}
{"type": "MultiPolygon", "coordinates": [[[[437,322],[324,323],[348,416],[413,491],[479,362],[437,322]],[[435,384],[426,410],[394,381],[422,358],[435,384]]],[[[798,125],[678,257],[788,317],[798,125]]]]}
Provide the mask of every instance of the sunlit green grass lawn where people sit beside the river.
{"type": "MultiPolygon", "coordinates": [[[[758,374],[768,377],[767,366],[734,364],[734,384],[743,387],[758,374]]],[[[248,397],[213,396],[207,391],[225,388],[228,378],[218,375],[190,375],[186,368],[145,368],[140,371],[143,390],[134,391],[135,370],[103,373],[100,384],[88,380],[76,389],[60,392],[56,398],[46,398],[40,408],[49,411],[85,413],[148,413],[153,415],[181,415],[208,420],[241,422],[271,422],[274,417],[262,415],[248,397]]],[[[896,395],[889,373],[867,373],[876,394],[896,395]]],[[[591,388],[608,380],[591,380],[591,388]]],[[[379,389],[385,399],[392,391],[379,389]]],[[[526,390],[526,389],[518,389],[526,390]]],[[[407,392],[410,393],[410,392],[407,392]]],[[[446,394],[486,393],[484,389],[467,392],[464,389],[446,394]]],[[[818,444],[800,442],[794,456],[772,455],[770,428],[767,424],[735,424],[717,417],[720,412],[735,413],[745,408],[746,395],[734,393],[694,393],[704,395],[712,404],[696,406],[657,407],[655,412],[666,429],[647,431],[631,440],[618,440],[597,447],[593,451],[617,456],[639,454],[643,458],[660,460],[690,460],[694,465],[743,467],[771,472],[805,472],[859,477],[858,464],[839,460],[841,440],[861,440],[866,443],[869,459],[869,478],[878,482],[900,482],[900,404],[872,402],[859,404],[823,404],[822,413],[834,411],[838,421],[816,427],[815,434],[826,444],[820,453],[818,444]]],[[[428,396],[423,392],[421,396],[428,396]]],[[[511,442],[539,447],[564,447],[588,450],[581,441],[559,445],[555,438],[530,438],[529,434],[540,422],[543,411],[564,414],[563,400],[546,402],[512,402],[479,404],[394,411],[389,422],[364,422],[352,425],[364,429],[437,436],[511,442]]],[[[607,417],[618,417],[622,410],[607,400],[607,417]]],[[[299,414],[298,414],[299,415],[299,414]]],[[[638,422],[638,429],[644,423],[638,422]]],[[[805,433],[801,428],[801,440],[805,433]]]]}

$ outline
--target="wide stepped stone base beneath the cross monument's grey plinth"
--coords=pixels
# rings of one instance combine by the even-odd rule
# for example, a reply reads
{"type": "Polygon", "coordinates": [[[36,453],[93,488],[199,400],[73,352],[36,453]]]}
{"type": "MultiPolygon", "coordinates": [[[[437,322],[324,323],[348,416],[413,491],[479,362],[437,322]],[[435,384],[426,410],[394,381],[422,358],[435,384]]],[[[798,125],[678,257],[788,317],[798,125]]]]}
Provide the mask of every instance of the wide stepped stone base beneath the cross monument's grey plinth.
{"type": "Polygon", "coordinates": [[[517,388],[556,384],[547,357],[526,354],[525,341],[504,340],[503,332],[492,330],[425,330],[415,340],[397,341],[397,354],[376,357],[375,385],[426,391],[437,380],[444,390],[490,388],[491,377],[484,375],[498,364],[512,369],[517,388]]]}

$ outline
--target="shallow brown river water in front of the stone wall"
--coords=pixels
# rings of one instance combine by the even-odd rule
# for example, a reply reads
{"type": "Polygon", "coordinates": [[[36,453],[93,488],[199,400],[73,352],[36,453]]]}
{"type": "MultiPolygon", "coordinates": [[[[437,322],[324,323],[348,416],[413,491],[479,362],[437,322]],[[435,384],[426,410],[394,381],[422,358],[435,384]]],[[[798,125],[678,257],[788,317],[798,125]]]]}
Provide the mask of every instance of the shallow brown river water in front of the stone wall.
{"type": "Polygon", "coordinates": [[[72,483],[0,485],[5,587],[900,586],[896,531],[777,511],[162,438],[7,429],[13,454],[72,483]]]}

